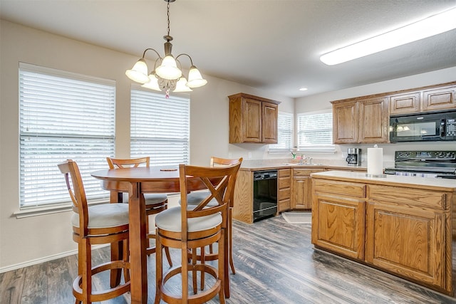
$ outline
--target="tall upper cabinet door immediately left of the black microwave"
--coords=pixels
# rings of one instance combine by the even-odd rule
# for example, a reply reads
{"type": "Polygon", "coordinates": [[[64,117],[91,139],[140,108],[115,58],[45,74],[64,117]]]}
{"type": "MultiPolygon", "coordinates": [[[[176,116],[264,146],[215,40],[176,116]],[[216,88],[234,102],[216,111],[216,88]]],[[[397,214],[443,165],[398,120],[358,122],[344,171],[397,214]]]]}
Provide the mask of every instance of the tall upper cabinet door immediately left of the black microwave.
{"type": "Polygon", "coordinates": [[[359,107],[359,142],[388,142],[388,99],[361,100],[359,107]]]}

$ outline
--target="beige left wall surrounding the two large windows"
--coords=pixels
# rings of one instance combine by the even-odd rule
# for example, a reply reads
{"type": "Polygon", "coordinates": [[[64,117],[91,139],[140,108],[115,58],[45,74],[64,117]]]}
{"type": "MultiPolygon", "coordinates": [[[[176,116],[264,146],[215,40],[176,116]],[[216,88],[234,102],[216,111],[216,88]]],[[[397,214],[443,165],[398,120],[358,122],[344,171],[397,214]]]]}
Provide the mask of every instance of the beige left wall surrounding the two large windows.
{"type": "MultiPolygon", "coordinates": [[[[159,33],[157,35],[160,37],[159,33]]],[[[130,87],[125,70],[138,60],[16,23],[0,23],[0,272],[73,251],[71,212],[16,219],[19,210],[19,62],[93,75],[116,81],[116,152],[130,155],[130,87]]],[[[202,71],[204,74],[204,71],[202,71]]],[[[209,157],[246,154],[228,144],[228,95],[239,92],[281,100],[279,110],[294,111],[294,100],[274,93],[204,75],[208,84],[191,95],[191,162],[208,164],[209,157]]],[[[261,155],[264,145],[249,147],[261,155]],[[260,152],[257,152],[260,151],[260,152]]]]}

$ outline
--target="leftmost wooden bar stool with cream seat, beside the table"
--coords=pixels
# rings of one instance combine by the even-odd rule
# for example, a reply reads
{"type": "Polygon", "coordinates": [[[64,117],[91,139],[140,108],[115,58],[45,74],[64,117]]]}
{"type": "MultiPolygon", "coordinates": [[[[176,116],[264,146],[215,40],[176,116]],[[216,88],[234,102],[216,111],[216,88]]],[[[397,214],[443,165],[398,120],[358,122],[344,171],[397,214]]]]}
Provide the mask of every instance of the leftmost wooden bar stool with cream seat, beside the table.
{"type": "MultiPolygon", "coordinates": [[[[58,164],[65,175],[66,186],[73,201],[73,240],[78,243],[78,276],[73,281],[76,303],[109,300],[130,291],[130,263],[128,262],[128,206],[125,204],[100,204],[88,206],[78,164],[69,159],[58,164]],[[71,182],[70,182],[71,177],[71,182]],[[72,187],[73,185],[73,187],[72,187]],[[95,244],[118,244],[111,251],[118,257],[98,266],[92,266],[92,249],[95,244]],[[102,271],[123,270],[125,283],[107,290],[93,290],[92,276],[102,271]]],[[[120,272],[119,272],[120,273],[120,272]]]]}

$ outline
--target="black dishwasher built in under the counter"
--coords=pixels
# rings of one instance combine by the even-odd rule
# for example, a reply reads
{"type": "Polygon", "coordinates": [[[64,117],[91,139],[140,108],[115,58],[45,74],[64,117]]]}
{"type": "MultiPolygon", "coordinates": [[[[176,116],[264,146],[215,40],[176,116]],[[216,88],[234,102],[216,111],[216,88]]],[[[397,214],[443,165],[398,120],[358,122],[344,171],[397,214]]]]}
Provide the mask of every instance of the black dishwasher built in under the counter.
{"type": "Polygon", "coordinates": [[[254,172],[254,221],[277,214],[277,170],[254,172]]]}

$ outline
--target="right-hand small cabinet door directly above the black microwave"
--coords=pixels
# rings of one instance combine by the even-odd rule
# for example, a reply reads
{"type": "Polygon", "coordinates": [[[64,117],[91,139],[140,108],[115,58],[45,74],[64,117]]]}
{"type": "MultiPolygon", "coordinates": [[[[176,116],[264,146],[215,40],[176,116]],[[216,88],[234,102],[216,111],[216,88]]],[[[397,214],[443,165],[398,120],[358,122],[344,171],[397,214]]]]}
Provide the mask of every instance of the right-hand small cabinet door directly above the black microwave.
{"type": "Polygon", "coordinates": [[[423,111],[456,109],[456,86],[423,91],[423,111]]]}

